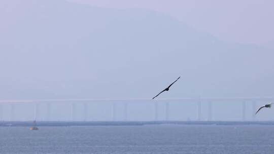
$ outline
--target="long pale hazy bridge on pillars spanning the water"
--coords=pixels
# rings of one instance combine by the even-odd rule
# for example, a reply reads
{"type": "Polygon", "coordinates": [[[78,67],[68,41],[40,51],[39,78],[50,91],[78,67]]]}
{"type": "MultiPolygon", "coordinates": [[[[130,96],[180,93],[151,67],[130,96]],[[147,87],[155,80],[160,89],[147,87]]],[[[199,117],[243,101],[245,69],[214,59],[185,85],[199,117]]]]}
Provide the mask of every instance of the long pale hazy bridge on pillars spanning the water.
{"type": "MultiPolygon", "coordinates": [[[[193,98],[158,98],[155,100],[147,99],[147,98],[121,98],[121,99],[36,99],[36,100],[0,100],[0,121],[4,120],[4,104],[10,104],[10,121],[16,121],[14,118],[15,115],[15,106],[19,104],[33,104],[35,105],[33,110],[33,119],[37,119],[39,114],[39,106],[41,104],[46,104],[46,119],[44,121],[52,121],[51,119],[51,110],[52,105],[56,105],[59,103],[62,104],[68,104],[70,105],[70,117],[71,121],[74,121],[75,113],[76,113],[76,106],[79,104],[84,105],[84,110],[82,112],[83,119],[82,121],[87,121],[88,119],[88,104],[90,103],[108,103],[112,106],[112,119],[110,121],[116,121],[117,120],[117,105],[122,104],[123,105],[123,121],[130,121],[128,119],[128,115],[130,114],[128,112],[128,108],[131,105],[131,103],[152,103],[154,104],[154,121],[159,120],[159,103],[164,103],[164,120],[169,121],[170,120],[170,104],[175,102],[180,103],[195,103],[196,104],[196,119],[195,121],[201,121],[201,113],[202,113],[202,104],[207,105],[207,121],[212,121],[212,113],[213,113],[213,103],[221,103],[221,102],[237,102],[236,107],[242,108],[242,118],[240,118],[242,121],[246,121],[246,112],[247,112],[247,105],[252,106],[252,112],[250,113],[252,115],[252,121],[255,120],[255,112],[257,109],[257,103],[258,102],[273,102],[274,97],[193,97],[193,98]]],[[[7,111],[6,111],[7,112],[7,111]]]]}

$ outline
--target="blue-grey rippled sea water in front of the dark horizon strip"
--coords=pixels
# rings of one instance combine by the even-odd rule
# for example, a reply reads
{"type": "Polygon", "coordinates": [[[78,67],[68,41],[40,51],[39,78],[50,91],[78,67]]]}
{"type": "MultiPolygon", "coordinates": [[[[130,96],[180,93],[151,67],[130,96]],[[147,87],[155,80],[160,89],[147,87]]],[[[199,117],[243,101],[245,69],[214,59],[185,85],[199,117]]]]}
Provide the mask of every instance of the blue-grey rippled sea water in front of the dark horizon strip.
{"type": "Polygon", "coordinates": [[[274,153],[274,126],[0,127],[0,153],[274,153]]]}

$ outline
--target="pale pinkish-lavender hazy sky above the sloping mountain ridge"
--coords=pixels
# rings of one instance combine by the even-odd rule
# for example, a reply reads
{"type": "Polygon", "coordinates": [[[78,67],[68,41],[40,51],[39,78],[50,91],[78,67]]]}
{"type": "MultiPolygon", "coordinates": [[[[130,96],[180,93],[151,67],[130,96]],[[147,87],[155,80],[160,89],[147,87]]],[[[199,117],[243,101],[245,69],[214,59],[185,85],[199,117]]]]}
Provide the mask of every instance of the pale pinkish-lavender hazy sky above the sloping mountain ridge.
{"type": "Polygon", "coordinates": [[[274,42],[272,0],[70,0],[106,8],[146,8],[163,12],[223,41],[274,42]]]}

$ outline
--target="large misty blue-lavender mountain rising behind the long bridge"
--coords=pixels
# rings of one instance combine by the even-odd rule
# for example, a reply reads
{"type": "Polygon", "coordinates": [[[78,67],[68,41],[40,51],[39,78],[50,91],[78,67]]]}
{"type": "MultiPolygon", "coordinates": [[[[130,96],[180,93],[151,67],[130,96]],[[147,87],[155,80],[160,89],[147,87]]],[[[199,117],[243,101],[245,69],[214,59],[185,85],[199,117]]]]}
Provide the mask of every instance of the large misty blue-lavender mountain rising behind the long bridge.
{"type": "Polygon", "coordinates": [[[145,9],[0,2],[0,99],[272,96],[274,53],[145,9]],[[166,81],[166,83],[163,83],[166,81]]]}

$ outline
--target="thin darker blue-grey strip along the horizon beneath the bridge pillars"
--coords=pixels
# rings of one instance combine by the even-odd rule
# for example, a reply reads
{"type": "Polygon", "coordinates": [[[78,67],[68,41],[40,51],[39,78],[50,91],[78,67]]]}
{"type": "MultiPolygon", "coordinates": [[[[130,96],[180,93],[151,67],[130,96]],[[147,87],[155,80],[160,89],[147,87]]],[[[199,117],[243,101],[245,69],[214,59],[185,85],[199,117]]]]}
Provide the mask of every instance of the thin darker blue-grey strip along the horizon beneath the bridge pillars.
{"type": "Polygon", "coordinates": [[[146,126],[146,125],[272,125],[274,121],[0,121],[0,127],[146,126]],[[34,123],[35,122],[35,123],[34,123]]]}

